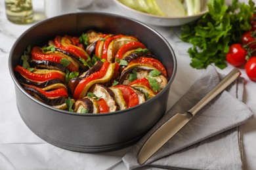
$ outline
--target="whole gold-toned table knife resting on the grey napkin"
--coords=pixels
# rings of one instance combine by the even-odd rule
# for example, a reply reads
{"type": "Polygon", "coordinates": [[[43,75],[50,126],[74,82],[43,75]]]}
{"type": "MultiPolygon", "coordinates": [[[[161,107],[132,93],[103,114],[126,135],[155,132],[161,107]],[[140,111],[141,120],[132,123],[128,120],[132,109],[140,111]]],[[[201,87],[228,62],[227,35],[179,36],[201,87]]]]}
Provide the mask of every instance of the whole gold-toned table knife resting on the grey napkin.
{"type": "Polygon", "coordinates": [[[156,151],[158,151],[163,144],[165,144],[173,135],[175,135],[184,125],[186,125],[209,101],[215,98],[219,93],[229,86],[234,80],[240,76],[238,69],[233,69],[226,75],[215,88],[213,88],[203,99],[201,99],[192,109],[184,112],[177,113],[167,122],[165,122],[159,129],[157,129],[142,146],[139,155],[138,162],[143,164],[148,158],[150,158],[156,151]]]}

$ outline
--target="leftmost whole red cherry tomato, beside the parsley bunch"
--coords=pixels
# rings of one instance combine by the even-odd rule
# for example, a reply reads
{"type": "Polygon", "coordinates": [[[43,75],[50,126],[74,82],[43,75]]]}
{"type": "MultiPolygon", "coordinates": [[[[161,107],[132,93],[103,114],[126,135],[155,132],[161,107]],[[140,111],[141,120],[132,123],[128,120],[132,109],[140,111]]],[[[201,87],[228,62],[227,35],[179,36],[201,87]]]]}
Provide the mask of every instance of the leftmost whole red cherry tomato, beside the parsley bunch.
{"type": "Polygon", "coordinates": [[[228,53],[226,54],[226,61],[231,65],[237,67],[246,62],[247,50],[244,49],[242,44],[232,44],[229,48],[228,53]]]}

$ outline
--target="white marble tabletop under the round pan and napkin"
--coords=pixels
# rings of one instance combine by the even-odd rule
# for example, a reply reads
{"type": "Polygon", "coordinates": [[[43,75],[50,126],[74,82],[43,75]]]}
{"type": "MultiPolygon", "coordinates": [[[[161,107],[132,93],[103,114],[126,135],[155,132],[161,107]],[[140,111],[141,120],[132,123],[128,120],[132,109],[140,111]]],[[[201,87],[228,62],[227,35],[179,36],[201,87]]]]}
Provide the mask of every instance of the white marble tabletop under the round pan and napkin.
{"type": "MultiPolygon", "coordinates": [[[[45,18],[43,0],[33,0],[33,9],[35,11],[33,24],[35,24],[45,18]]],[[[95,0],[83,10],[125,15],[110,0],[95,0]]],[[[0,159],[0,169],[3,161],[11,162],[16,169],[107,169],[111,167],[121,160],[129,148],[96,154],[71,152],[45,143],[22,122],[16,108],[14,84],[9,75],[8,57],[12,44],[33,24],[16,25],[9,22],[5,16],[4,1],[0,1],[0,158],[2,158],[0,159]]],[[[190,58],[186,53],[190,44],[181,42],[173,33],[173,29],[177,31],[179,27],[173,29],[170,27],[152,27],[169,41],[177,56],[177,76],[171,86],[171,99],[168,102],[168,107],[171,107],[202,75],[204,70],[190,67],[190,58]]],[[[226,74],[232,68],[228,66],[226,69],[218,69],[218,71],[226,74]]],[[[255,113],[255,118],[242,126],[244,169],[256,169],[256,82],[251,82],[245,71],[243,69],[241,71],[246,80],[244,102],[255,113]]],[[[126,168],[122,163],[119,163],[116,169],[126,168]]]]}

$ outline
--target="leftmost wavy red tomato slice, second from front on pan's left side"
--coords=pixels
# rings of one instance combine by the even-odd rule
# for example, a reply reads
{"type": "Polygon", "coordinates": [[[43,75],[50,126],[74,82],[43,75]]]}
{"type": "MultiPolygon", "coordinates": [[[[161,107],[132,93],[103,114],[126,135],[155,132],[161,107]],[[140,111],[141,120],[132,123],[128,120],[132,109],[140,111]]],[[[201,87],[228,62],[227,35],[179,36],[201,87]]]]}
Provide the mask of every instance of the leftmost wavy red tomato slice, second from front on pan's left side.
{"type": "Polygon", "coordinates": [[[46,80],[52,80],[54,78],[58,78],[62,80],[62,82],[64,82],[65,76],[66,76],[66,74],[62,73],[61,71],[49,71],[49,70],[46,70],[45,73],[43,74],[37,74],[31,71],[28,71],[27,69],[25,69],[24,67],[21,67],[20,65],[17,65],[14,68],[14,70],[18,71],[18,73],[20,73],[20,75],[24,76],[25,78],[28,78],[30,80],[37,81],[37,82],[44,82],[46,80]]]}

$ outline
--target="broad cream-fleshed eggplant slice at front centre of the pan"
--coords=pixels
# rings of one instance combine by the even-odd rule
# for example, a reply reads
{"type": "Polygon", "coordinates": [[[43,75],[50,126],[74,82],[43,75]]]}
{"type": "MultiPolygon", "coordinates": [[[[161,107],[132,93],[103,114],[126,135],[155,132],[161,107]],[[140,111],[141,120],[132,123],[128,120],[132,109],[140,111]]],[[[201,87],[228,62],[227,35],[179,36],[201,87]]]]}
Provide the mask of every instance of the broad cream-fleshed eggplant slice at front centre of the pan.
{"type": "Polygon", "coordinates": [[[115,93],[109,88],[106,88],[102,84],[95,84],[91,87],[90,92],[94,93],[97,97],[103,98],[106,101],[110,112],[119,110],[119,105],[115,100],[115,93]]]}

